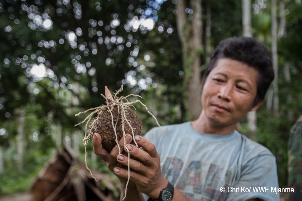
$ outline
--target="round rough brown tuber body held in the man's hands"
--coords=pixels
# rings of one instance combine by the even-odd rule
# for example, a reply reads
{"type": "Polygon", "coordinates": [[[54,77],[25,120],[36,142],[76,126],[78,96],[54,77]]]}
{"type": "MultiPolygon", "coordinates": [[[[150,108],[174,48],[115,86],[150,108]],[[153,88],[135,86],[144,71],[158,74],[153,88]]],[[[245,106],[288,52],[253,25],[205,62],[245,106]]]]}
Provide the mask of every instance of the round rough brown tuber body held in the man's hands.
{"type": "MultiPolygon", "coordinates": [[[[132,129],[134,135],[140,135],[142,130],[142,121],[135,114],[134,111],[130,109],[125,109],[126,120],[124,120],[124,131],[125,134],[132,135],[132,129]],[[130,127],[130,125],[132,127],[130,127]]],[[[122,111],[118,109],[118,107],[114,107],[111,111],[113,116],[113,124],[116,125],[116,134],[117,140],[119,141],[123,137],[123,123],[122,123],[122,111]]],[[[114,133],[114,129],[112,127],[112,117],[108,107],[104,107],[98,113],[98,116],[93,120],[90,125],[89,134],[92,136],[94,133],[99,133],[102,137],[102,145],[107,151],[111,152],[114,146],[116,146],[116,136],[114,133]]]]}

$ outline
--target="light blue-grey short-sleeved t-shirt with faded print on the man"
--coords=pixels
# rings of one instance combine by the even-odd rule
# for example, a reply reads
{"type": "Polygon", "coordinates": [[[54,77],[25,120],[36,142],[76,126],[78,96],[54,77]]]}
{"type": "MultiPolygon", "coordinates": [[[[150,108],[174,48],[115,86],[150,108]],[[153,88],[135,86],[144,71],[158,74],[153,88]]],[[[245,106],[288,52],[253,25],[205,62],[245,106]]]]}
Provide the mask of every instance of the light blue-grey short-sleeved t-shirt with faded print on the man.
{"type": "Polygon", "coordinates": [[[279,200],[276,160],[264,146],[238,131],[199,133],[191,122],[161,130],[144,137],[160,155],[163,176],[190,200],[279,200]]]}

